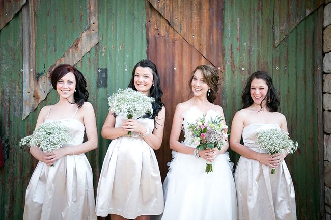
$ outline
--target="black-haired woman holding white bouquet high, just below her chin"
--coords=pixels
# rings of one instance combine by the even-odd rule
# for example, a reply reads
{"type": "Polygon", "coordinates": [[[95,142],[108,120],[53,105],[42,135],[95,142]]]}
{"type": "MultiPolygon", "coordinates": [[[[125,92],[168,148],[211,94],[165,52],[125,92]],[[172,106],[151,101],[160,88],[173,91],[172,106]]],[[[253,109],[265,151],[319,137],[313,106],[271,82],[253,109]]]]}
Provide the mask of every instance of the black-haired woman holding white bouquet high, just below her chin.
{"type": "MultiPolygon", "coordinates": [[[[156,66],[150,60],[138,62],[129,88],[153,97],[153,115],[127,119],[109,112],[101,131],[113,140],[103,161],[96,199],[98,216],[116,219],[149,219],[162,213],[163,193],[154,150],[163,138],[166,108],[156,66]],[[123,122],[124,121],[124,122],[123,122]],[[131,136],[128,136],[131,131],[131,136]]],[[[130,103],[128,103],[130,104],[130,103]]]]}

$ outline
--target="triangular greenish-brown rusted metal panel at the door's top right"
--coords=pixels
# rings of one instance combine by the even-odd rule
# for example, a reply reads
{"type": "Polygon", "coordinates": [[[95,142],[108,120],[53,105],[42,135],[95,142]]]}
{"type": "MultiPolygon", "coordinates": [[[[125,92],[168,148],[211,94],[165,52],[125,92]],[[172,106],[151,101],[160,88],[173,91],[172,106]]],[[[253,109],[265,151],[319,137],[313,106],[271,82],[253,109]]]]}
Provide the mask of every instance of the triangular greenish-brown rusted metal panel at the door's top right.
{"type": "Polygon", "coordinates": [[[274,47],[277,47],[292,30],[310,13],[325,3],[324,0],[274,1],[274,47]]]}

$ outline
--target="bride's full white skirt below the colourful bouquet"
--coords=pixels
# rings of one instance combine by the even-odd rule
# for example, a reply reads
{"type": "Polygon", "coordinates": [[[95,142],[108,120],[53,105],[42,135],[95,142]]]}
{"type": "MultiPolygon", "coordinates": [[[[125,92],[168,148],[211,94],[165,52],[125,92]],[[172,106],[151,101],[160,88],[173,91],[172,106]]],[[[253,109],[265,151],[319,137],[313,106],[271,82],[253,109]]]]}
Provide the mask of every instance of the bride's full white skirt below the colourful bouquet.
{"type": "Polygon", "coordinates": [[[162,220],[237,219],[233,163],[228,152],[216,157],[213,172],[208,174],[202,158],[175,151],[173,158],[163,183],[166,204],[162,220]]]}

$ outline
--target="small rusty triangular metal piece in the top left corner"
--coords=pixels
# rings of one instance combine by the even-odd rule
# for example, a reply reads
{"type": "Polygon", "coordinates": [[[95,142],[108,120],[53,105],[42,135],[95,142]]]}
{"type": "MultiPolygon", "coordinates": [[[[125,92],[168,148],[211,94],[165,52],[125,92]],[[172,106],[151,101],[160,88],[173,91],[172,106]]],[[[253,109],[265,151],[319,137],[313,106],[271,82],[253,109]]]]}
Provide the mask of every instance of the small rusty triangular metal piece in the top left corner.
{"type": "Polygon", "coordinates": [[[0,0],[0,30],[19,12],[26,0],[0,0]]]}

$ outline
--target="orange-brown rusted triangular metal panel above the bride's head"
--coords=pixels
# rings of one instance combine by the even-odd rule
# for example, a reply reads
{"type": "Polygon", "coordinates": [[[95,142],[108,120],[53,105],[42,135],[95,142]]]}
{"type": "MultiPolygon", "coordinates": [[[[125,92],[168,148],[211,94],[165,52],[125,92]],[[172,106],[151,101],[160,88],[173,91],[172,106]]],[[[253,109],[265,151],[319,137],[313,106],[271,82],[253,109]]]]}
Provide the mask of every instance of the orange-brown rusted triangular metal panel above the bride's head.
{"type": "Polygon", "coordinates": [[[223,0],[149,2],[189,45],[223,71],[223,0]]]}

